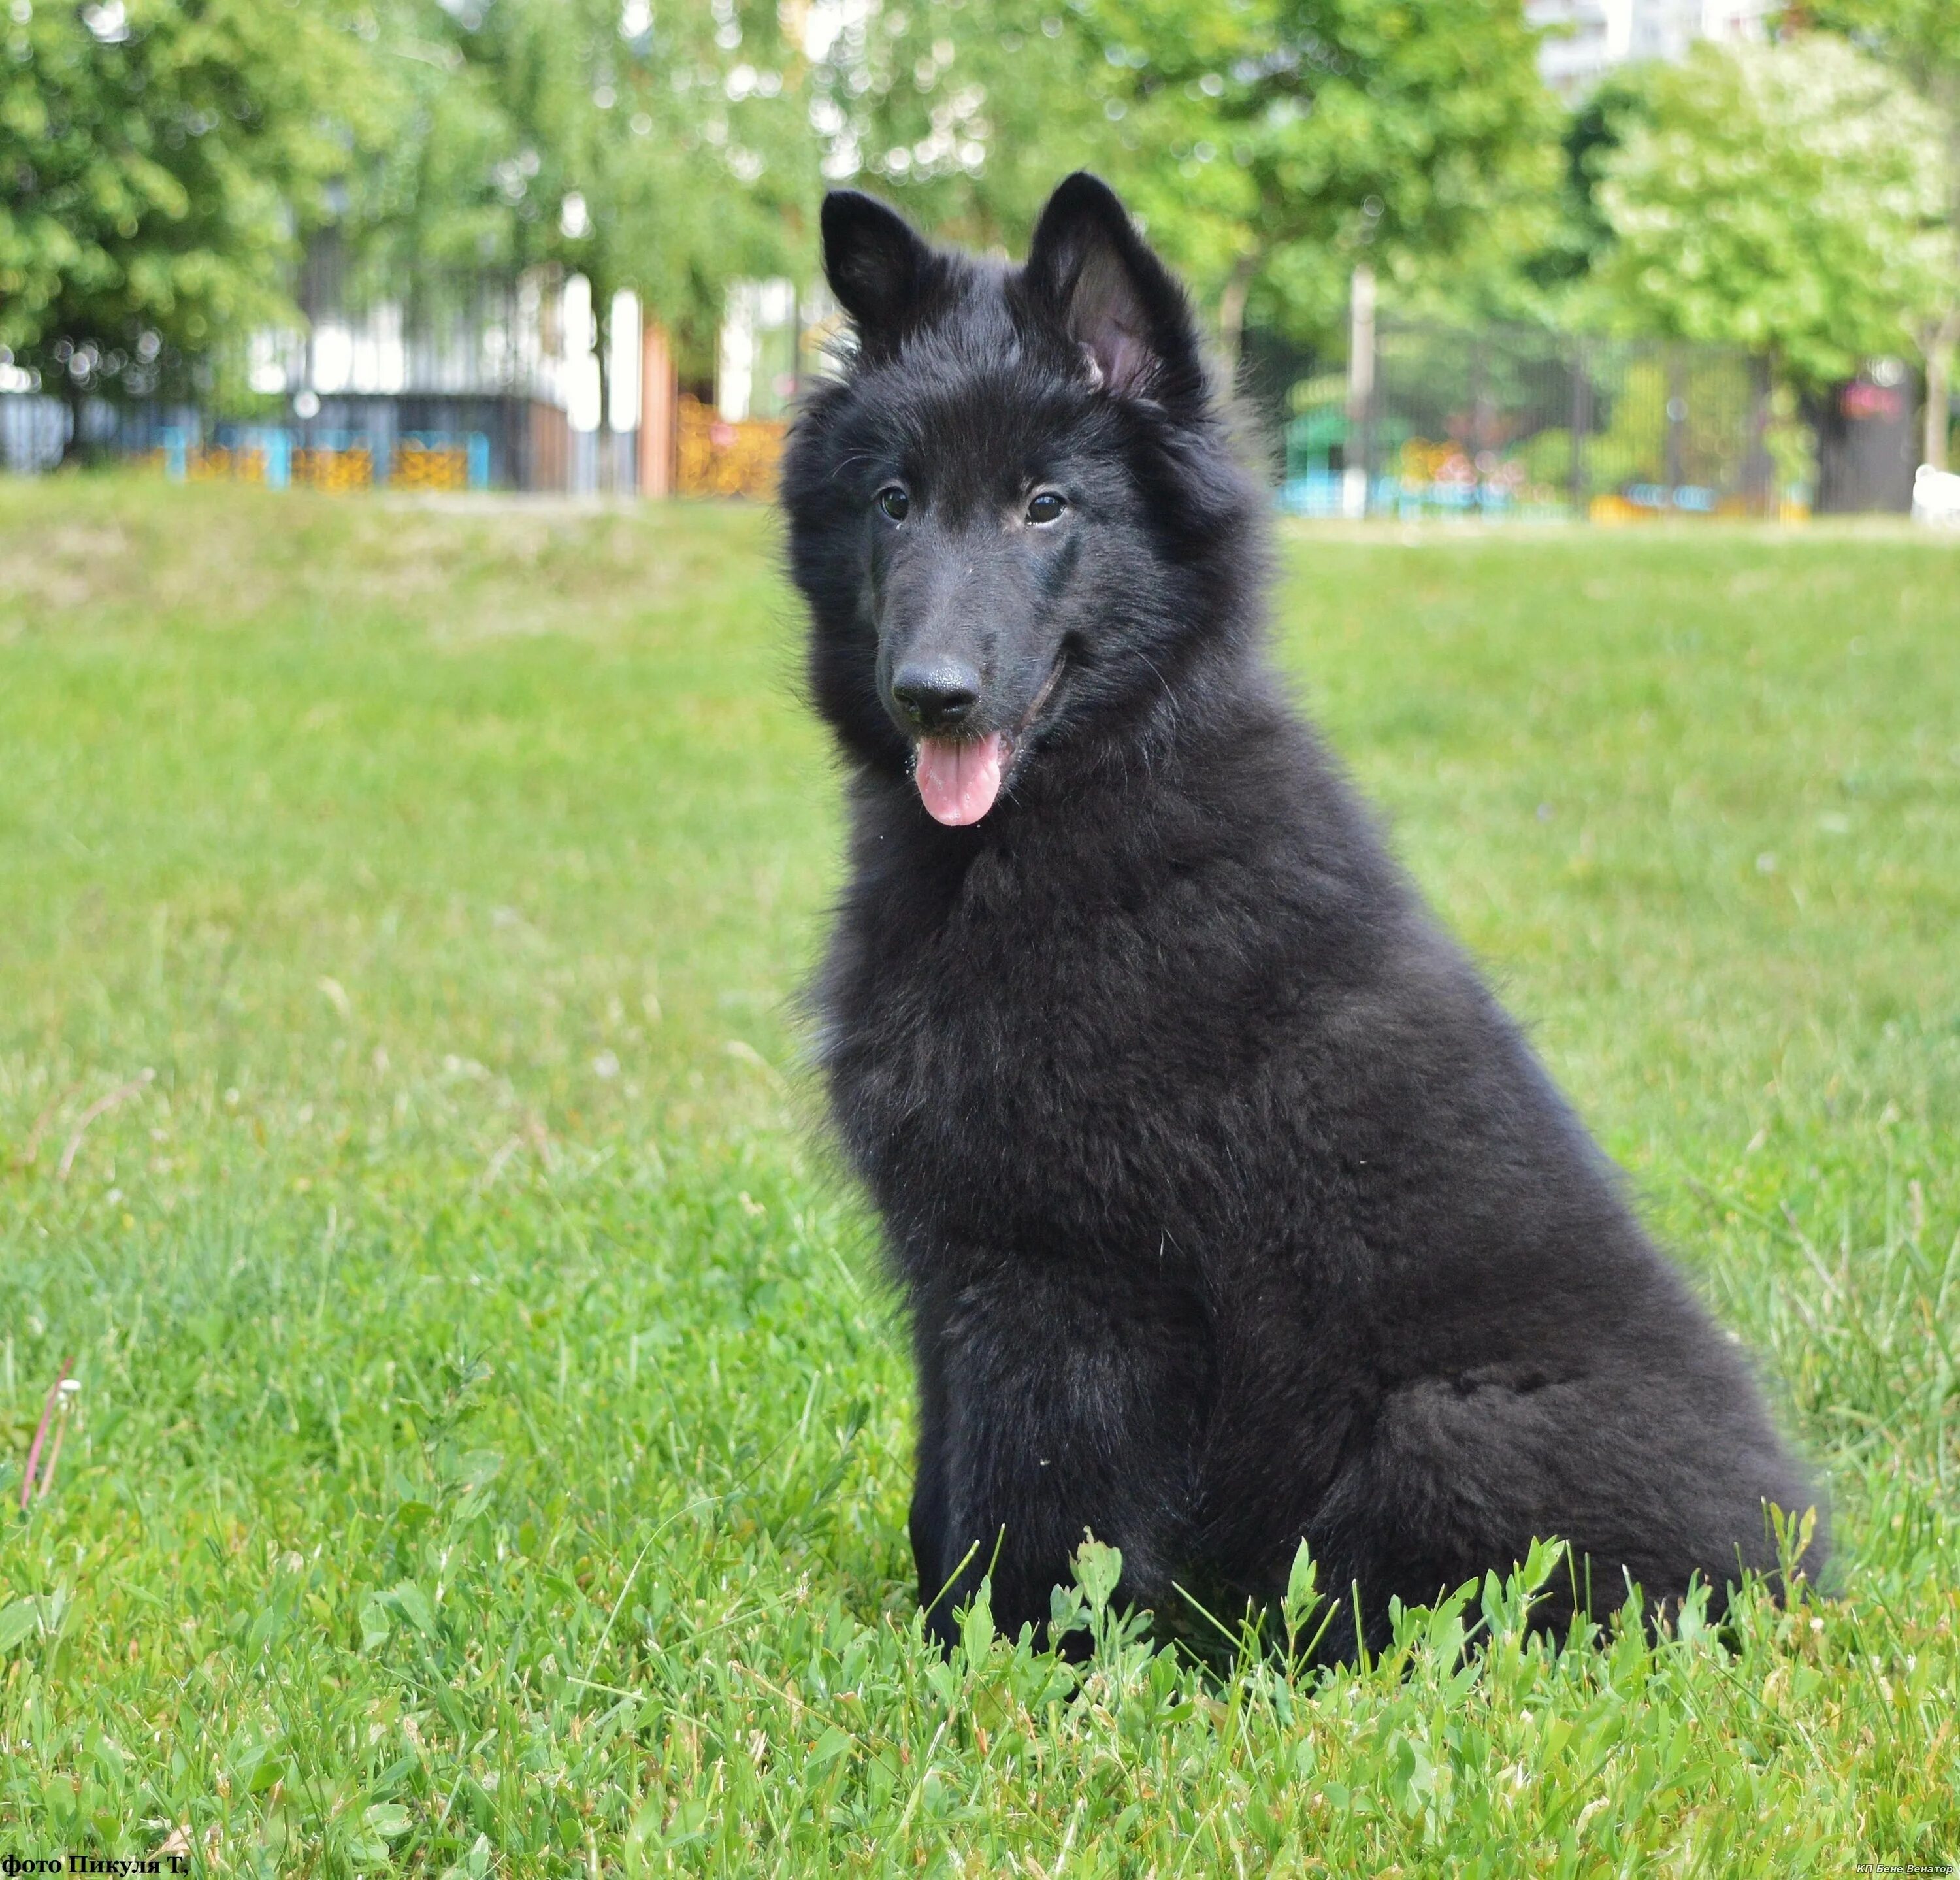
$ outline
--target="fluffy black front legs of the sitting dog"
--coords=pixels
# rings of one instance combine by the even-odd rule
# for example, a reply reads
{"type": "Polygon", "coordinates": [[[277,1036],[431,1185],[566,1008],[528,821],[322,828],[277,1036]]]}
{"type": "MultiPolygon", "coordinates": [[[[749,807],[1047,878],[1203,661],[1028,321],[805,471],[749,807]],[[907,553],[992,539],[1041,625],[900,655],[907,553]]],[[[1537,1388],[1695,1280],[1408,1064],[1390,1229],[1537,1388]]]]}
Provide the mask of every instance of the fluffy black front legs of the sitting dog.
{"type": "Polygon", "coordinates": [[[1039,1631],[1090,1533],[1123,1553],[1121,1602],[1168,1594],[1211,1380],[1196,1300],[1004,1262],[960,1286],[935,1329],[913,1504],[933,1635],[953,1641],[982,1578],[1002,1631],[1039,1631]]]}

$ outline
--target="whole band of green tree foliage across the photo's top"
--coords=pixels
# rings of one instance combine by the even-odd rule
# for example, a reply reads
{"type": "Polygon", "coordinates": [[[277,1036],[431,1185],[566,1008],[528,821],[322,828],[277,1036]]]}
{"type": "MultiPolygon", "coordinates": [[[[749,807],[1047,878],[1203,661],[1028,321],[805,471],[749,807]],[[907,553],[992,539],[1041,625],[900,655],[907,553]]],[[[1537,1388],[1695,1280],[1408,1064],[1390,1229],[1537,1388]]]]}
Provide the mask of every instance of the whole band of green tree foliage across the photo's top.
{"type": "MultiPolygon", "coordinates": [[[[1950,10],[1844,0],[1629,71],[1570,120],[1515,0],[20,0],[0,347],[71,396],[241,378],[337,237],[353,300],[476,272],[635,290],[706,372],[727,284],[808,280],[825,178],[1017,249],[1102,171],[1233,347],[1419,318],[1938,365],[1960,331],[1950,10]],[[406,284],[406,286],[404,286],[406,284]]],[[[604,349],[602,349],[604,359],[604,349]]]]}

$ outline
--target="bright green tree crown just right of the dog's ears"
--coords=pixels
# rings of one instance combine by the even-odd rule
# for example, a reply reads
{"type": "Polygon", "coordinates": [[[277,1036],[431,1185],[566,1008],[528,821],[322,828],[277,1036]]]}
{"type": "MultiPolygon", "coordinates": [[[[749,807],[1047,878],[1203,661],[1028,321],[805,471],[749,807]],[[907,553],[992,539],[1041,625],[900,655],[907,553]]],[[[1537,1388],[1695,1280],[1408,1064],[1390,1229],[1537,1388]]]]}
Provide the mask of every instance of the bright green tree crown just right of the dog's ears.
{"type": "Polygon", "coordinates": [[[1390,298],[1535,245],[1560,110],[1517,0],[1078,0],[1139,159],[1137,206],[1215,296],[1298,337],[1366,263],[1390,298]]]}

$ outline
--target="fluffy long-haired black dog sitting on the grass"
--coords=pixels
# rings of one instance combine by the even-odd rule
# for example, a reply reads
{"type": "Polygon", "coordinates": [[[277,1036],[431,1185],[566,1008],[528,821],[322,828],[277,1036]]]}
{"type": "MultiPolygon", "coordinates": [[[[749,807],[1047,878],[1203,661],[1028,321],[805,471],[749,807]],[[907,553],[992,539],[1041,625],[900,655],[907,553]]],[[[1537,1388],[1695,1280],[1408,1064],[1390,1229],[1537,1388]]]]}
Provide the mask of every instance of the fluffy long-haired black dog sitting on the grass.
{"type": "MultiPolygon", "coordinates": [[[[1262,649],[1190,308],[1070,176],[1025,267],[823,206],[855,325],[784,467],[849,765],[817,986],[911,1308],[919,1592],[1388,1602],[1562,1537],[1543,1613],[1774,1570],[1811,1488],[1262,649]]],[[[1823,1555],[1819,1541],[1809,1564],[1823,1555]]]]}

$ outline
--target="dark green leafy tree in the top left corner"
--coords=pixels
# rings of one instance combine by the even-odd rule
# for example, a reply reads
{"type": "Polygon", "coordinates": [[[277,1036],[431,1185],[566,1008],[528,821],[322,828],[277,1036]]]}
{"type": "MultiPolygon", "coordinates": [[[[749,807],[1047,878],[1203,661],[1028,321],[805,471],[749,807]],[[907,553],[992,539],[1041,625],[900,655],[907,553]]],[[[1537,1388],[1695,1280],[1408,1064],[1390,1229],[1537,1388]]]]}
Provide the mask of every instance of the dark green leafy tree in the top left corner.
{"type": "MultiPolygon", "coordinates": [[[[357,16],[14,0],[0,25],[0,345],[69,398],[188,390],[292,320],[298,237],[372,129],[357,16]]],[[[71,443],[73,449],[73,443],[71,443]]]]}

